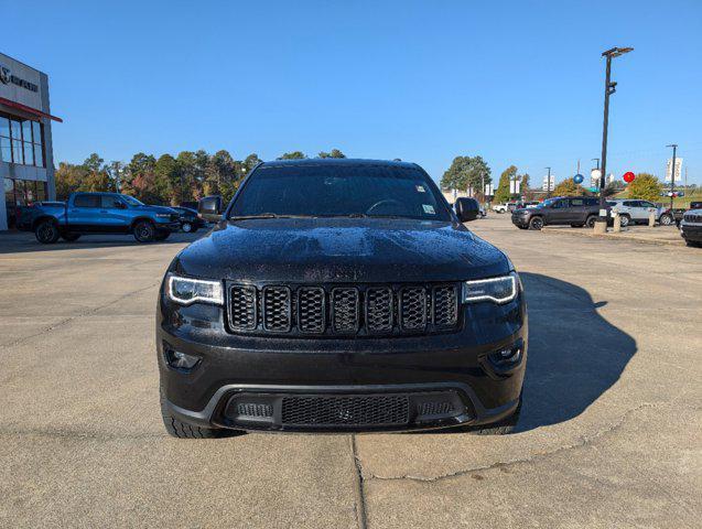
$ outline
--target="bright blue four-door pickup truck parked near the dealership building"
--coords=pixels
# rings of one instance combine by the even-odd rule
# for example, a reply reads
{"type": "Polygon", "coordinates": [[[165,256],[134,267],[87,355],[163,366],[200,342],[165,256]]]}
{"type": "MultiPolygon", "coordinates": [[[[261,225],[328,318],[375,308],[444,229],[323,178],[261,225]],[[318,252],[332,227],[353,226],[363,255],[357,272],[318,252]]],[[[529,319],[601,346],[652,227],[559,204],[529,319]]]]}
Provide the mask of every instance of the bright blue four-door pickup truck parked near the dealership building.
{"type": "Polygon", "coordinates": [[[31,208],[23,229],[50,245],[58,238],[77,240],[84,234],[133,234],[139,242],[165,240],[181,227],[180,215],[163,206],[148,206],[119,193],[72,193],[66,203],[31,208]]]}

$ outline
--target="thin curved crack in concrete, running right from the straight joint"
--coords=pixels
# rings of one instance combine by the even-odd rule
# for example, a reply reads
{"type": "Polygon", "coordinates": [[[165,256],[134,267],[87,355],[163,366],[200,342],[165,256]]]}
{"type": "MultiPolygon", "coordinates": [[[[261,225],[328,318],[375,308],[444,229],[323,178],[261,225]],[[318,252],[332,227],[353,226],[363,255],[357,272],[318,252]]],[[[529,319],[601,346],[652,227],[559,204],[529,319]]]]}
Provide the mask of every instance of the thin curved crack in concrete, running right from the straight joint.
{"type": "MultiPolygon", "coordinates": [[[[484,471],[492,471],[492,469],[497,469],[497,468],[507,468],[507,467],[510,467],[510,466],[520,465],[520,464],[525,464],[525,463],[533,463],[533,462],[537,462],[537,461],[541,461],[541,460],[551,457],[553,455],[558,455],[558,454],[562,454],[564,452],[569,452],[571,450],[576,450],[576,449],[581,449],[581,447],[584,447],[584,446],[588,446],[588,445],[593,444],[595,441],[597,441],[598,439],[602,439],[602,438],[604,438],[606,435],[609,435],[609,434],[616,432],[617,430],[619,430],[629,420],[630,415],[633,415],[634,413],[638,412],[639,410],[642,410],[644,408],[654,408],[655,406],[657,406],[657,404],[649,403],[649,402],[641,403],[641,404],[637,406],[636,408],[631,408],[630,410],[627,410],[619,418],[619,420],[617,422],[615,422],[614,424],[609,425],[608,428],[605,428],[605,429],[602,429],[602,430],[597,431],[593,435],[584,435],[577,442],[574,442],[574,443],[571,443],[571,444],[566,444],[566,445],[562,445],[562,446],[559,446],[559,447],[553,449],[553,450],[548,450],[548,451],[543,451],[543,452],[537,452],[536,454],[532,454],[529,457],[516,457],[514,460],[508,460],[508,461],[498,461],[498,462],[492,463],[489,465],[477,465],[477,466],[472,466],[472,467],[468,467],[468,468],[461,468],[458,471],[450,472],[450,473],[446,473],[446,474],[440,474],[438,476],[421,476],[421,475],[412,475],[412,474],[403,474],[403,475],[400,475],[400,476],[381,476],[381,475],[377,475],[377,474],[366,474],[365,479],[379,479],[379,481],[409,479],[409,481],[419,482],[419,483],[434,483],[434,482],[441,482],[443,479],[449,479],[449,478],[453,478],[453,477],[464,476],[466,474],[472,474],[474,472],[484,472],[484,471]]],[[[357,467],[361,468],[360,461],[358,462],[357,467]]]]}

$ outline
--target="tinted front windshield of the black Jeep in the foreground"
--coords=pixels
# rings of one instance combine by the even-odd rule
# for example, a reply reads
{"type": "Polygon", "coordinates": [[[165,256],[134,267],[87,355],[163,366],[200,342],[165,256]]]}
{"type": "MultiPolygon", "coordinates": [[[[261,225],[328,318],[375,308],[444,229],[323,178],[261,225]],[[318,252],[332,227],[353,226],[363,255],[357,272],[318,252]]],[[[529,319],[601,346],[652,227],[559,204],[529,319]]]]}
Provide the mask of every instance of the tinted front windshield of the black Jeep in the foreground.
{"type": "Polygon", "coordinates": [[[397,165],[269,165],[246,182],[229,218],[371,216],[449,220],[424,172],[397,165]]]}

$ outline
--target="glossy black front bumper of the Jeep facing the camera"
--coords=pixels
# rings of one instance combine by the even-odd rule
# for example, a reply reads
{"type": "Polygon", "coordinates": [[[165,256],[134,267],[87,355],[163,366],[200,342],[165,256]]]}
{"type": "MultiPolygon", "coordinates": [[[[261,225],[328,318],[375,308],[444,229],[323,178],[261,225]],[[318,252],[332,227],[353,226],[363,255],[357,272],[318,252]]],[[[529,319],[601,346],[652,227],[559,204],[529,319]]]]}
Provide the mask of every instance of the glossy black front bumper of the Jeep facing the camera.
{"type": "Polygon", "coordinates": [[[161,298],[156,348],[165,406],[183,422],[263,431],[496,422],[515,411],[521,392],[528,348],[523,294],[505,305],[465,305],[462,313],[461,327],[446,334],[257,337],[227,333],[222,307],[179,306],[161,298]],[[514,344],[521,347],[518,361],[497,368],[489,354],[514,344]],[[166,350],[201,360],[184,373],[169,366],[166,350]]]}

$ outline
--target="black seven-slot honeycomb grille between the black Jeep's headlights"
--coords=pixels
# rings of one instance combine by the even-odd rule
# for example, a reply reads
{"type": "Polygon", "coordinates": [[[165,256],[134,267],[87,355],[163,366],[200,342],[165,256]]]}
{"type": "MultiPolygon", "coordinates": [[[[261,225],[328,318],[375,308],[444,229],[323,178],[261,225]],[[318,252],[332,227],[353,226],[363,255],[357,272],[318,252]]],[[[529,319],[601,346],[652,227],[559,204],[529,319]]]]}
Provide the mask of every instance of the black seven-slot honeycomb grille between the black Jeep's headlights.
{"type": "Polygon", "coordinates": [[[236,333],[393,335],[456,327],[458,285],[230,285],[236,333]]]}

